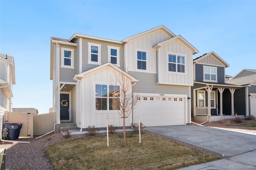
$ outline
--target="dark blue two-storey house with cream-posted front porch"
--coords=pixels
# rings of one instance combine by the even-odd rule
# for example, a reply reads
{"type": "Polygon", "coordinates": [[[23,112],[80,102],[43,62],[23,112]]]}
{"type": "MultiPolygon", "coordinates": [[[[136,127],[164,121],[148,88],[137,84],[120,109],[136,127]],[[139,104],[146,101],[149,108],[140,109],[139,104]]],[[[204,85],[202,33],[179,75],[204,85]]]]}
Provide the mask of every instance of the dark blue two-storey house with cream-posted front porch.
{"type": "Polygon", "coordinates": [[[229,67],[226,61],[212,51],[194,59],[193,65],[194,86],[191,102],[195,121],[218,121],[231,118],[235,114],[248,115],[246,103],[248,87],[251,84],[228,83],[235,77],[226,80],[231,77],[225,75],[225,68],[229,67]]]}

